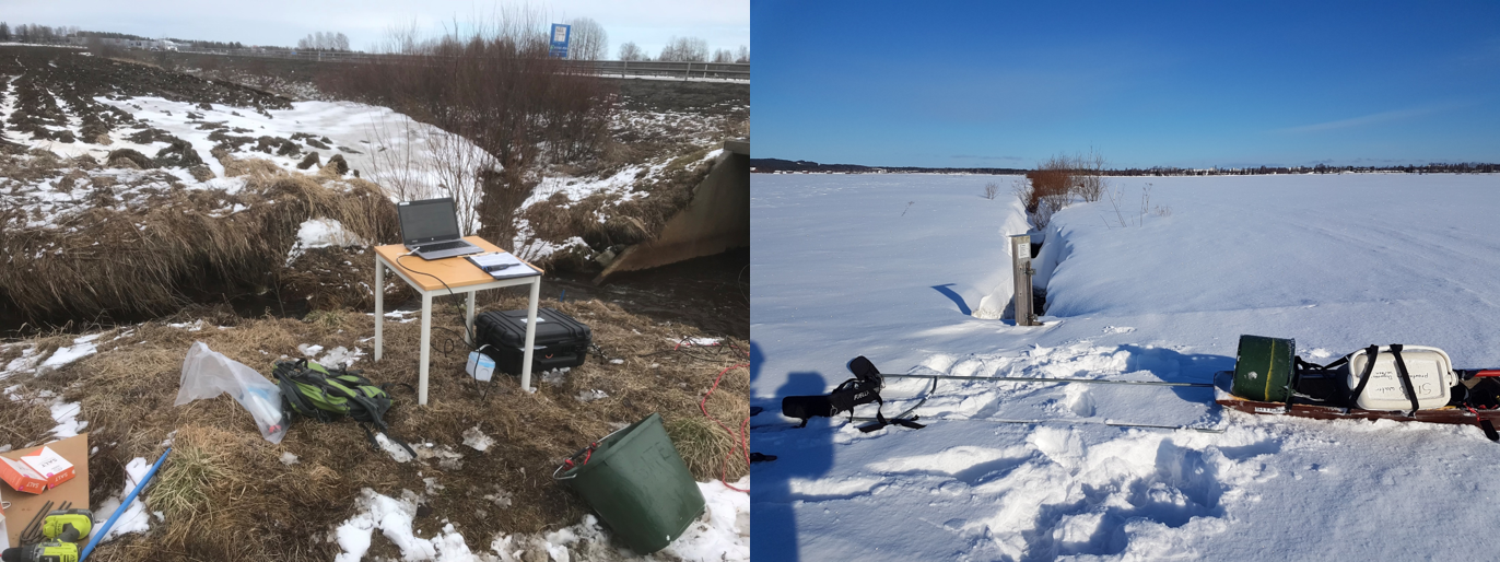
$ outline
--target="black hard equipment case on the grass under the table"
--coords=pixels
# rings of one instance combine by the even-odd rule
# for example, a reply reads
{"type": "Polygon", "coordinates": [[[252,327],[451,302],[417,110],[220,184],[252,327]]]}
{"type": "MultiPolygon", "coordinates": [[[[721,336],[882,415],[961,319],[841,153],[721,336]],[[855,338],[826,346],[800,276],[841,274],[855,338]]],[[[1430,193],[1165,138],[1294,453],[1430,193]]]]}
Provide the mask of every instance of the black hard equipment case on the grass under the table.
{"type": "MultiPolygon", "coordinates": [[[[490,310],[474,319],[474,337],[502,373],[520,375],[526,345],[525,310],[490,310]]],[[[588,357],[592,333],[582,322],[556,309],[537,309],[537,339],[532,345],[531,372],[578,367],[588,357]]]]}

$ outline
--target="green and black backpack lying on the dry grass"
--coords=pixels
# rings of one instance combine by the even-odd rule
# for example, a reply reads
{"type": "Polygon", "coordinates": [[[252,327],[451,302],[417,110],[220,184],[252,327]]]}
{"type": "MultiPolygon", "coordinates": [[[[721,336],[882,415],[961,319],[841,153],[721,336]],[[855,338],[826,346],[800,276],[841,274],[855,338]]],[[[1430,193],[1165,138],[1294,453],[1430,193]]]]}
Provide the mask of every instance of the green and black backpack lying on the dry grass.
{"type": "MultiPolygon", "coordinates": [[[[382,420],[392,403],[390,393],[386,391],[390,384],[376,387],[360,376],[358,370],[328,369],[308,360],[276,361],[272,373],[276,375],[278,387],[282,391],[282,411],[302,414],[318,421],[334,421],[348,415],[360,423],[360,429],[364,430],[364,436],[375,450],[381,448],[375,441],[375,433],[381,433],[411,453],[411,459],[417,459],[417,451],[390,435],[390,429],[382,420]],[[374,433],[369,426],[375,426],[374,433]]],[[[411,388],[411,385],[404,387],[411,388]]]]}

